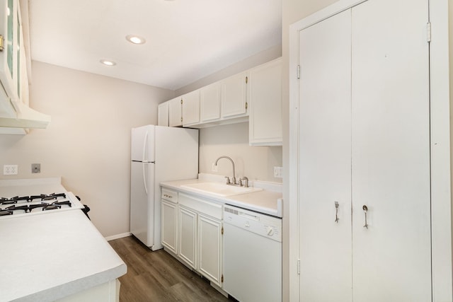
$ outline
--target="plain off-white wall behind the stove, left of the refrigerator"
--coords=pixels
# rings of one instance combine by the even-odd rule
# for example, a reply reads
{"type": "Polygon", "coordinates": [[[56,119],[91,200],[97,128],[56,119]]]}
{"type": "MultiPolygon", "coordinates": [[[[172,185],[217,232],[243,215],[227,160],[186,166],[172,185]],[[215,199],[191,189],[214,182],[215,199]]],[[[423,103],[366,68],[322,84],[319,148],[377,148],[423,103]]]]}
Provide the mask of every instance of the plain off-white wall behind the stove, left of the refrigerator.
{"type": "MultiPolygon", "coordinates": [[[[62,176],[67,190],[91,207],[103,236],[129,232],[130,128],[156,124],[157,105],[173,91],[33,62],[30,107],[52,116],[47,129],[0,135],[0,167],[16,176],[62,176]],[[31,174],[31,163],[41,164],[31,174]]],[[[51,193],[51,192],[44,192],[51,193]]]]}

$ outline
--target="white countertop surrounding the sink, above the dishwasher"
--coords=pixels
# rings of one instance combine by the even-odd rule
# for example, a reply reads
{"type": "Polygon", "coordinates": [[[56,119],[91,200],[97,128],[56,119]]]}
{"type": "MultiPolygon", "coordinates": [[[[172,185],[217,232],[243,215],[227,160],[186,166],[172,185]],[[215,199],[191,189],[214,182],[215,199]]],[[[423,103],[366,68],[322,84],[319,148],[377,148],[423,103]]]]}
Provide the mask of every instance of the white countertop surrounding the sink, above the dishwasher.
{"type": "MultiPolygon", "coordinates": [[[[252,211],[258,211],[260,213],[282,217],[282,192],[275,192],[266,190],[266,185],[263,183],[254,182],[253,185],[256,187],[263,187],[263,191],[251,192],[245,194],[231,195],[228,197],[219,197],[215,194],[209,194],[205,192],[199,192],[197,190],[190,190],[188,187],[181,187],[183,185],[189,185],[197,182],[207,182],[207,178],[193,179],[193,180],[176,180],[171,182],[161,182],[162,187],[168,189],[178,190],[200,197],[212,199],[223,204],[231,204],[236,207],[249,209],[252,211]]],[[[275,184],[269,185],[269,187],[278,187],[275,184]]]]}

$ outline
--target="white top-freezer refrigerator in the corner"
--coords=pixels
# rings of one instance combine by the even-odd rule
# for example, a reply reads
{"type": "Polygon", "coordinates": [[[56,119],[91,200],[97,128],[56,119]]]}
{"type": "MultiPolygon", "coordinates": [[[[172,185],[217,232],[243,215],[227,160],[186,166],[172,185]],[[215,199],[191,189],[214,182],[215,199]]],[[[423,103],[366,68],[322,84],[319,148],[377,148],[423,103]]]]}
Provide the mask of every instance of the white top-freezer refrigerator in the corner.
{"type": "Polygon", "coordinates": [[[161,243],[161,188],[198,175],[198,130],[147,125],[132,129],[130,232],[151,250],[161,243]]]}

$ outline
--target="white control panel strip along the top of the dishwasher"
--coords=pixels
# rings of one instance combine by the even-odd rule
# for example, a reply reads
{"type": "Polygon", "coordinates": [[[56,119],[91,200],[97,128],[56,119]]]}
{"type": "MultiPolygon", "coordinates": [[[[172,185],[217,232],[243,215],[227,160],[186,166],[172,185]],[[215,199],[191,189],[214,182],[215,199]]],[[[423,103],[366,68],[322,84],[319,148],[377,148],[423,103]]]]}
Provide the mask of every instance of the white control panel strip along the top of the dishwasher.
{"type": "Polygon", "coordinates": [[[282,219],[224,205],[224,223],[282,242],[282,219]]]}

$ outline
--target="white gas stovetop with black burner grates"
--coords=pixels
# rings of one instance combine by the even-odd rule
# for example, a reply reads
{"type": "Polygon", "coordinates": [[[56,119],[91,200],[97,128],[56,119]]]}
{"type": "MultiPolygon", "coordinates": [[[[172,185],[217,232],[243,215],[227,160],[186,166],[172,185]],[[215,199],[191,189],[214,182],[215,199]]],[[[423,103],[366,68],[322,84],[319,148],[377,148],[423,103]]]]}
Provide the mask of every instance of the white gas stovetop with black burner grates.
{"type": "Polygon", "coordinates": [[[84,209],[61,178],[0,180],[0,219],[84,209]]]}

